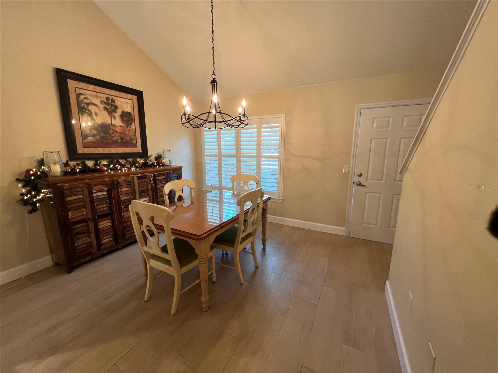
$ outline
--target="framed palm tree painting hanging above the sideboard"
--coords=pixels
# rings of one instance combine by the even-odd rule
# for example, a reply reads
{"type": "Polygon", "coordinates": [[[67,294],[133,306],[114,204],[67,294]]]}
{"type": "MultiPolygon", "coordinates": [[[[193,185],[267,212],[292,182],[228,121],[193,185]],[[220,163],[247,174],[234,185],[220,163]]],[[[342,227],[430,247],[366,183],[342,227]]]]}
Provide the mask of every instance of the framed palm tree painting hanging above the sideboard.
{"type": "Polygon", "coordinates": [[[147,156],[143,92],[55,69],[70,160],[147,156]]]}

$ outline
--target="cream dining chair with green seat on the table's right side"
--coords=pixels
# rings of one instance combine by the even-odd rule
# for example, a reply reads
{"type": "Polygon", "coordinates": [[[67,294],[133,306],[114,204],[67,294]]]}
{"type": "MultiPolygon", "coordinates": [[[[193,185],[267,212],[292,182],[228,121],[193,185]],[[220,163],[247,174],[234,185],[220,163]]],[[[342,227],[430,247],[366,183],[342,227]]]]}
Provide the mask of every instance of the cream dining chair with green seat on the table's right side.
{"type": "Polygon", "coordinates": [[[255,238],[256,230],[261,218],[263,198],[264,197],[262,188],[250,190],[237,198],[237,204],[240,206],[241,211],[238,224],[219,234],[214,239],[213,244],[211,245],[212,250],[220,249],[222,251],[230,251],[234,254],[235,267],[226,265],[221,262],[217,262],[217,264],[223,267],[235,269],[242,284],[244,283],[244,278],[242,277],[239,253],[243,251],[245,253],[251,254],[252,260],[254,261],[254,266],[256,268],[259,267],[256,256],[255,238]],[[246,224],[244,224],[244,210],[247,203],[250,203],[250,207],[247,215],[247,222],[246,224]],[[249,245],[249,243],[251,251],[246,250],[246,246],[249,245]]]}

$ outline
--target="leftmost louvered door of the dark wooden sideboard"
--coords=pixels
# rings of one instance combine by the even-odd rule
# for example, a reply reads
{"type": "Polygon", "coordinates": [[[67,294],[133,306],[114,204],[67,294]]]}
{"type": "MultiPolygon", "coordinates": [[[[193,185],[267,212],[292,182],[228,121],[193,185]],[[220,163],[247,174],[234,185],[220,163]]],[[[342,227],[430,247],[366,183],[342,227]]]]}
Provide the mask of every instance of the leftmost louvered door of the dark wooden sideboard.
{"type": "Polygon", "coordinates": [[[98,254],[86,183],[58,185],[72,264],[98,254]]]}

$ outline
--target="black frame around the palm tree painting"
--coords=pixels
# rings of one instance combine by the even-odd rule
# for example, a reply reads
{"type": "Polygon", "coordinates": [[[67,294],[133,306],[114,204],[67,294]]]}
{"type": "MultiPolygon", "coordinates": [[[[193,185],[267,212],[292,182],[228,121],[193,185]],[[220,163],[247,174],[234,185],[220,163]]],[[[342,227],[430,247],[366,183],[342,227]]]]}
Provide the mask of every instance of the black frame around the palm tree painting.
{"type": "MultiPolygon", "coordinates": [[[[116,83],[107,82],[101,79],[92,78],[86,75],[74,73],[72,71],[63,70],[60,68],[55,68],[55,73],[57,77],[57,86],[59,88],[59,96],[61,102],[62,110],[62,120],[64,123],[64,132],[66,135],[66,144],[68,157],[71,161],[84,161],[93,159],[110,159],[112,157],[123,158],[145,158],[147,154],[147,136],[145,127],[145,111],[143,105],[143,92],[135,90],[133,88],[121,86],[116,83]],[[98,152],[98,153],[81,153],[78,151],[76,143],[76,133],[72,123],[73,113],[71,108],[71,97],[68,87],[68,79],[76,82],[82,82],[85,84],[101,87],[108,90],[113,90],[121,93],[127,93],[136,96],[137,100],[137,110],[138,110],[138,121],[139,121],[139,134],[140,134],[140,152],[98,152]]],[[[79,114],[76,114],[79,115],[79,114]]]]}

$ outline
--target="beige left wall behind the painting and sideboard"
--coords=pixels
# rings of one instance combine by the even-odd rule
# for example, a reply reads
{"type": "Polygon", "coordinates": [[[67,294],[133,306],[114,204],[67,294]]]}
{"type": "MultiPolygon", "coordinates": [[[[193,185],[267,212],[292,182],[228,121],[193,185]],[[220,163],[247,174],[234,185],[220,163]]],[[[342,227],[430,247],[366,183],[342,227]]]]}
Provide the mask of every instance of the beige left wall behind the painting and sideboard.
{"type": "Polygon", "coordinates": [[[1,271],[49,255],[41,213],[14,203],[14,182],[43,150],[67,158],[54,68],[143,91],[149,154],[171,149],[197,174],[194,131],[180,125],[181,89],[92,1],[1,1],[1,271]]]}

